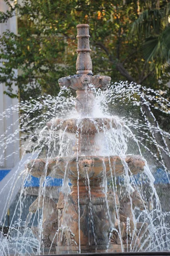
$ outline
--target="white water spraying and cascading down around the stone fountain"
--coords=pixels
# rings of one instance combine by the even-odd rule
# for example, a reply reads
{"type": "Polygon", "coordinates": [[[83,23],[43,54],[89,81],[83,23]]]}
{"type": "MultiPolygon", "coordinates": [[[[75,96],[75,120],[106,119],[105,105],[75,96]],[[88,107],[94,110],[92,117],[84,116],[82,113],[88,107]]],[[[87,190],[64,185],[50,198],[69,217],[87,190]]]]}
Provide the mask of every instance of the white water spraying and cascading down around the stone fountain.
{"type": "MultiPolygon", "coordinates": [[[[161,91],[159,90],[155,91],[150,88],[141,87],[141,85],[138,84],[128,84],[127,82],[111,84],[105,91],[95,89],[93,86],[91,86],[90,90],[92,90],[95,95],[95,102],[93,111],[90,115],[88,114],[88,116],[80,116],[75,111],[76,99],[68,88],[65,88],[65,90],[62,89],[57,97],[50,95],[46,97],[40,96],[36,100],[30,99],[30,101],[21,102],[17,106],[11,107],[1,113],[0,120],[3,118],[10,119],[12,113],[20,113],[20,126],[13,134],[8,133],[9,127],[5,133],[0,136],[0,150],[2,152],[0,155],[0,163],[3,163],[4,160],[9,161],[10,155],[5,155],[4,152],[7,147],[10,147],[10,145],[17,140],[18,134],[20,134],[21,161],[27,155],[30,156],[29,159],[52,159],[57,156],[73,158],[75,154],[72,150],[72,146],[76,145],[78,163],[79,145],[76,141],[78,136],[81,137],[82,128],[78,129],[76,134],[71,134],[67,132],[68,126],[65,127],[64,131],[61,131],[61,129],[58,130],[58,126],[55,125],[48,130],[46,123],[52,119],[74,118],[77,119],[77,127],[80,127],[81,119],[88,117],[94,122],[97,131],[94,143],[95,148],[99,149],[98,151],[94,150],[93,155],[101,157],[115,155],[125,159],[127,154],[139,154],[142,155],[146,161],[144,172],[138,173],[137,175],[130,174],[130,169],[128,169],[125,161],[123,161],[125,175],[119,177],[112,176],[111,179],[107,179],[106,171],[104,170],[104,186],[106,187],[106,193],[108,186],[108,188],[113,189],[114,192],[119,192],[119,200],[121,200],[124,195],[127,193],[130,195],[131,192],[136,190],[141,195],[142,200],[147,203],[147,209],[139,212],[138,209],[133,209],[132,200],[130,202],[134,223],[146,222],[147,227],[141,235],[140,244],[137,244],[137,239],[135,240],[137,246],[133,246],[132,241],[127,241],[127,250],[170,250],[170,212],[166,202],[169,200],[167,188],[170,186],[170,166],[168,169],[166,163],[168,157],[170,157],[168,148],[170,133],[160,128],[154,116],[155,113],[157,113],[157,115],[161,113],[168,118],[170,114],[170,102],[161,95],[161,91]],[[67,97],[64,96],[65,93],[68,94],[67,97]],[[97,118],[103,118],[104,120],[104,118],[112,119],[113,116],[115,126],[110,124],[110,128],[108,129],[103,121],[101,127],[99,127],[97,118]],[[161,195],[163,192],[164,196],[161,195]]],[[[16,123],[12,125],[16,125],[16,123]]],[[[17,150],[14,151],[13,155],[18,154],[17,152],[17,150]]],[[[25,160],[24,163],[26,164],[27,162],[28,160],[25,160]]],[[[48,172],[48,165],[49,162],[47,161],[45,174],[48,172]]],[[[3,197],[4,192],[6,192],[6,187],[8,187],[7,199],[2,205],[4,212],[0,220],[0,255],[36,255],[36,253],[47,253],[45,249],[42,249],[42,243],[45,243],[44,237],[46,236],[42,221],[44,201],[42,209],[38,208],[35,214],[29,213],[29,206],[35,200],[36,195],[39,197],[43,195],[44,198],[48,196],[49,198],[53,198],[57,203],[61,189],[68,194],[70,190],[69,187],[72,185],[70,184],[66,169],[63,170],[63,172],[65,173],[64,182],[61,183],[61,186],[51,186],[50,182],[52,182],[54,178],[46,178],[46,175],[44,175],[38,180],[39,184],[37,186],[37,192],[35,193],[35,187],[31,185],[26,186],[26,184],[31,184],[32,180],[30,169],[25,167],[24,171],[21,162],[18,163],[16,171],[11,176],[9,175],[9,180],[0,191],[0,197],[3,197]],[[22,170],[20,170],[20,168],[22,170]],[[14,191],[16,187],[18,187],[18,183],[20,183],[20,186],[15,195],[14,191]],[[7,223],[8,217],[6,215],[8,208],[11,212],[9,223],[7,223]],[[23,214],[24,212],[25,214],[23,214]],[[33,232],[33,227],[35,226],[38,227],[37,236],[35,236],[33,232]]],[[[77,172],[78,230],[80,241],[81,198],[79,198],[79,178],[81,177],[81,173],[79,172],[78,164],[77,172]]],[[[91,205],[91,183],[88,173],[87,177],[87,193],[90,195],[91,205]]],[[[117,215],[119,215],[118,209],[116,209],[116,211],[117,215]]],[[[92,231],[95,234],[95,247],[97,251],[98,244],[96,244],[96,241],[98,241],[98,238],[93,223],[92,207],[90,207],[89,212],[92,220],[92,231]]],[[[69,230],[69,227],[65,229],[69,230]]],[[[120,234],[120,222],[118,223],[118,229],[120,234]]],[[[127,229],[130,229],[130,220],[127,222],[127,229]]],[[[62,230],[59,221],[58,228],[56,228],[55,232],[56,238],[58,237],[57,230],[62,230]]],[[[110,225],[110,234],[112,230],[116,230],[116,228],[110,225]]],[[[130,231],[132,233],[134,232],[133,230],[130,231]]],[[[58,246],[58,244],[55,244],[55,237],[53,239],[54,244],[51,245],[50,251],[52,251],[53,247],[58,246]]],[[[109,239],[107,242],[109,244],[109,239]]],[[[81,252],[80,243],[77,250],[79,253],[81,252]]]]}

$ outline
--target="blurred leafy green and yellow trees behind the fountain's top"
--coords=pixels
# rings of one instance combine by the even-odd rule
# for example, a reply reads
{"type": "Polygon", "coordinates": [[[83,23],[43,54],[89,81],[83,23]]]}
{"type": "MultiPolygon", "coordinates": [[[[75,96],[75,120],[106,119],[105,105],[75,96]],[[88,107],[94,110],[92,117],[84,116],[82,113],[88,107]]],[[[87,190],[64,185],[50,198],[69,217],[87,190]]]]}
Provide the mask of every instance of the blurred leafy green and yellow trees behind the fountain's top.
{"type": "Polygon", "coordinates": [[[167,89],[169,0],[4,1],[10,10],[0,12],[0,22],[13,15],[18,20],[18,34],[6,31],[0,38],[0,82],[6,83],[9,96],[18,96],[12,81],[23,101],[58,94],[58,79],[76,73],[78,23],[90,26],[94,74],[167,89]]]}

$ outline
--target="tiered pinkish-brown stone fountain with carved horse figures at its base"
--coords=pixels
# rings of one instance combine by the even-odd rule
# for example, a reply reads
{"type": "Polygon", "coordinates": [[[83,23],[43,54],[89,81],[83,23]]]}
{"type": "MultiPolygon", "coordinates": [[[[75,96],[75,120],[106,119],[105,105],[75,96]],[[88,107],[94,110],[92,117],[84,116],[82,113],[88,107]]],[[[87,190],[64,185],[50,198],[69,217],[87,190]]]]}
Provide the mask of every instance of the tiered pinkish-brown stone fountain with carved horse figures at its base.
{"type": "Polygon", "coordinates": [[[134,223],[133,209],[146,209],[137,191],[129,192],[119,201],[114,186],[107,191],[107,179],[142,172],[145,161],[138,155],[100,156],[95,145],[95,135],[123,124],[115,118],[92,118],[95,97],[92,88],[109,86],[109,76],[94,75],[89,48],[89,25],[79,24],[77,73],[58,80],[60,87],[76,91],[76,111],[80,118],[54,119],[47,123],[49,129],[75,134],[72,157],[37,159],[28,163],[35,177],[56,177],[70,180],[71,191],[60,192],[58,202],[40,195],[30,206],[30,212],[43,208],[42,247],[55,253],[123,252],[128,244],[140,247],[147,223],[134,223]],[[92,86],[93,85],[93,86],[92,86]]]}

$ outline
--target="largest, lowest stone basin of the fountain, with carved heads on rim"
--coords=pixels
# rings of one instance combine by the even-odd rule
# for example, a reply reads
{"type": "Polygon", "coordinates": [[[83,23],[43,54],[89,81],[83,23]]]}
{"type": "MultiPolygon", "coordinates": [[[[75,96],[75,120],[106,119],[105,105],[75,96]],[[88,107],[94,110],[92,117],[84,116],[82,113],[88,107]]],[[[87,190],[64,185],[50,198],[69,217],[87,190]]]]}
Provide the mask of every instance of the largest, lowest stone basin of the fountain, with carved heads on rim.
{"type": "Polygon", "coordinates": [[[31,160],[27,167],[30,174],[35,177],[51,176],[64,178],[64,175],[70,179],[77,179],[78,173],[81,179],[89,177],[90,179],[115,177],[129,174],[137,174],[143,171],[145,161],[141,156],[127,155],[124,157],[110,156],[80,156],[80,157],[55,157],[52,159],[31,160]],[[127,170],[127,172],[126,172],[127,170]]]}

